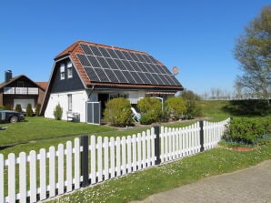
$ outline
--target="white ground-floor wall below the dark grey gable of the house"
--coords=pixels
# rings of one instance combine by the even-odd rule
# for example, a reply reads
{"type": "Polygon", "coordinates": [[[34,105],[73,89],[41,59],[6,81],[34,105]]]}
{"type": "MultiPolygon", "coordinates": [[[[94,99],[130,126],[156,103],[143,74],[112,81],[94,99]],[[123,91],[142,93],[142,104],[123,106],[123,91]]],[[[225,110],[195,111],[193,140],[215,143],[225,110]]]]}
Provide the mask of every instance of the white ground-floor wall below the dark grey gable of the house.
{"type": "Polygon", "coordinates": [[[45,109],[45,117],[55,118],[54,110],[55,106],[59,103],[63,108],[63,120],[66,120],[66,112],[68,111],[68,96],[72,95],[72,112],[80,114],[80,122],[85,122],[85,102],[87,101],[87,95],[85,91],[77,92],[65,92],[59,94],[51,94],[47,107],[45,109]]]}

